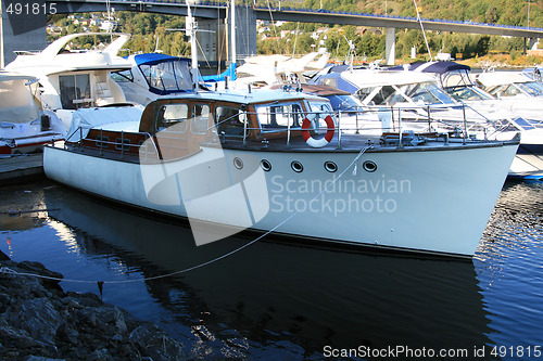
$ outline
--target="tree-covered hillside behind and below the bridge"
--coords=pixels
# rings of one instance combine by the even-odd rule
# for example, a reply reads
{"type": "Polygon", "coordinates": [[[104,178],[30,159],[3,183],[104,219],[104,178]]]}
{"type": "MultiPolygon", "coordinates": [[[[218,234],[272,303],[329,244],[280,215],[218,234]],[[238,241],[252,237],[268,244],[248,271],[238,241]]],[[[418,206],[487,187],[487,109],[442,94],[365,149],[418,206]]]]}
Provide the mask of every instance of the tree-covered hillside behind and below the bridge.
{"type": "MultiPolygon", "coordinates": [[[[416,17],[414,2],[400,0],[287,0],[281,7],[350,11],[394,16],[416,17]]],[[[237,2],[242,4],[241,1],[237,2]]],[[[255,2],[250,1],[252,7],[255,2]]],[[[261,7],[277,8],[277,0],[256,0],[261,7]]],[[[531,0],[418,0],[422,18],[443,18],[454,21],[471,21],[501,25],[543,27],[543,1],[531,0]]],[[[90,14],[79,14],[89,17],[90,14]]],[[[190,46],[184,31],[172,29],[185,28],[185,17],[148,13],[117,12],[116,31],[129,33],[131,40],[127,43],[129,52],[151,52],[160,49],[172,55],[190,55],[190,46]]],[[[62,33],[76,33],[80,28],[66,17],[56,15],[52,18],[62,27],[62,33]]],[[[281,26],[265,24],[258,30],[257,51],[260,54],[281,53],[300,55],[308,53],[319,46],[326,46],[336,60],[343,60],[350,50],[349,41],[354,46],[358,61],[372,61],[384,57],[384,31],[378,28],[355,26],[331,26],[321,24],[287,23],[281,26]]],[[[92,30],[97,30],[92,29],[92,30]]],[[[508,62],[541,63],[543,59],[528,59],[522,55],[525,39],[496,36],[426,33],[432,54],[440,50],[455,59],[470,59],[497,54],[507,54],[508,62]]],[[[543,44],[543,41],[542,41],[543,44]]],[[[90,47],[86,44],[85,47],[90,47]]],[[[420,30],[396,30],[396,57],[408,60],[412,48],[420,59],[428,59],[426,44],[420,30]]]]}

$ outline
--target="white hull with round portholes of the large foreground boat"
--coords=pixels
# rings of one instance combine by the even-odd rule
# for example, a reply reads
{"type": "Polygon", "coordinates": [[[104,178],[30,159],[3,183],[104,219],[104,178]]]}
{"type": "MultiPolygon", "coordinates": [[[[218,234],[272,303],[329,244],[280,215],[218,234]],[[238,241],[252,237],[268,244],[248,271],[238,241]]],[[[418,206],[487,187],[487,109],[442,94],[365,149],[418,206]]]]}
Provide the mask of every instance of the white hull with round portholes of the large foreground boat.
{"type": "Polygon", "coordinates": [[[47,146],[43,167],[61,183],[185,217],[191,225],[194,220],[233,227],[231,233],[272,230],[302,238],[469,257],[518,146],[497,144],[369,151],[357,160],[358,152],[203,147],[190,159],[154,165],[47,146]],[[206,162],[217,158],[224,160],[219,167],[229,175],[230,186],[210,190],[215,182],[205,180],[217,179],[219,167],[206,162]],[[241,171],[236,158],[245,165],[241,180],[236,179],[241,171]],[[260,167],[261,159],[270,165],[267,171],[260,167]],[[294,160],[302,171],[293,169],[294,160]],[[327,169],[326,162],[333,162],[337,170],[327,169]],[[205,166],[188,171],[198,164],[205,166]],[[206,196],[195,202],[194,194],[206,196]]]}

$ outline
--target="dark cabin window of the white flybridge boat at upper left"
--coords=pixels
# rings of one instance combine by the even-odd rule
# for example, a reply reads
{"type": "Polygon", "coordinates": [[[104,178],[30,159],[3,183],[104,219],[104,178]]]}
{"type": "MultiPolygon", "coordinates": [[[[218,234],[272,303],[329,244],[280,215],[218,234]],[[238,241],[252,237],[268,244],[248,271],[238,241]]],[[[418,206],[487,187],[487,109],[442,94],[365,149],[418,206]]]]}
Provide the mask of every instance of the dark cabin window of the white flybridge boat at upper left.
{"type": "Polygon", "coordinates": [[[61,75],[59,87],[64,109],[77,109],[92,102],[88,74],[61,75]]]}

